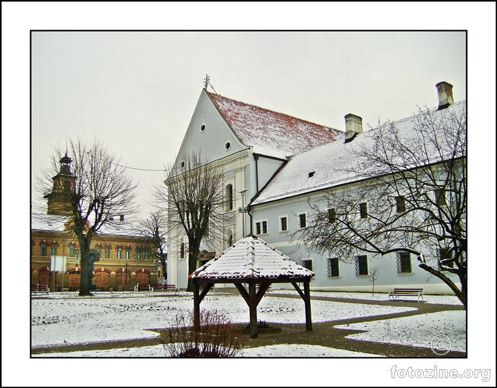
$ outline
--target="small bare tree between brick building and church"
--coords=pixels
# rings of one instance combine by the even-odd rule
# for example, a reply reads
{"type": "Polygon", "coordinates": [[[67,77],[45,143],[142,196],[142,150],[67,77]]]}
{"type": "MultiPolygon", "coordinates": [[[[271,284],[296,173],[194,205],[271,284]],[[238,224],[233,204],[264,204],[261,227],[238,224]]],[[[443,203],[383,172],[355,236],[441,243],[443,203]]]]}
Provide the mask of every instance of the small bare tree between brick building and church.
{"type": "Polygon", "coordinates": [[[152,212],[147,219],[140,220],[139,235],[143,242],[152,245],[155,256],[162,266],[164,277],[167,279],[167,216],[163,209],[152,212]]]}

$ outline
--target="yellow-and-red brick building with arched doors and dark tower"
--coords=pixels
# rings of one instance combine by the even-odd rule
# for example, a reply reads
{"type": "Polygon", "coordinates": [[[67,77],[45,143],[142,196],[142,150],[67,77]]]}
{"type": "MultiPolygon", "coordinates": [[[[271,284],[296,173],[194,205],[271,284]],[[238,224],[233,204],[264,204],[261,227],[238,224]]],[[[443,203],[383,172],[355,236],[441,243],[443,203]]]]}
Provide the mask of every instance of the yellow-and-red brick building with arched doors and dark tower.
{"type": "MultiPolygon", "coordinates": [[[[80,287],[81,255],[76,235],[70,232],[71,217],[61,188],[70,189],[76,177],[70,170],[71,158],[60,159],[61,169],[53,178],[53,191],[47,194],[46,214],[31,214],[31,284],[48,285],[50,290],[63,288],[76,291],[80,287]],[[51,257],[63,256],[64,274],[51,271],[51,257]],[[55,287],[55,288],[54,288],[55,287]]],[[[162,282],[163,274],[152,244],[138,235],[136,227],[124,215],[106,223],[91,241],[91,248],[100,253],[93,265],[92,284],[96,289],[132,290],[137,283],[162,282]]]]}

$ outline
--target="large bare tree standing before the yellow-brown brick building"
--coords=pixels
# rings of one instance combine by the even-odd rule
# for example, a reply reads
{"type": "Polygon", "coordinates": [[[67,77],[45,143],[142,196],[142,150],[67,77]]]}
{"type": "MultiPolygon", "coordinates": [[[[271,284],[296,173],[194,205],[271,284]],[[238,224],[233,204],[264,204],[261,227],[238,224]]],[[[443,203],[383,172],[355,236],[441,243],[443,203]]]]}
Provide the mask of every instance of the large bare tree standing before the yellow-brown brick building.
{"type": "Polygon", "coordinates": [[[120,165],[120,158],[100,141],[69,140],[66,156],[55,150],[51,163],[37,177],[37,191],[48,198],[49,214],[69,216],[69,233],[78,238],[81,252],[80,296],[92,295],[88,268],[90,244],[113,216],[133,216],[137,186],[120,165]],[[68,156],[70,155],[70,156],[68,156]]]}

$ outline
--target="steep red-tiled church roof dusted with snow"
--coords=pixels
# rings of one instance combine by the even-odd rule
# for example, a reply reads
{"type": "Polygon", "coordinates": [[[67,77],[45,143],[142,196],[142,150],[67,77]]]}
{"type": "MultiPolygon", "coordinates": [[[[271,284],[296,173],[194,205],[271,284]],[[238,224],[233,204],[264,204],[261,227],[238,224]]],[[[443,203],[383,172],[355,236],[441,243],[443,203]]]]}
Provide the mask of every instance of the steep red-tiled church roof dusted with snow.
{"type": "Polygon", "coordinates": [[[209,93],[240,141],[254,153],[287,158],[343,137],[343,132],[209,93]]]}

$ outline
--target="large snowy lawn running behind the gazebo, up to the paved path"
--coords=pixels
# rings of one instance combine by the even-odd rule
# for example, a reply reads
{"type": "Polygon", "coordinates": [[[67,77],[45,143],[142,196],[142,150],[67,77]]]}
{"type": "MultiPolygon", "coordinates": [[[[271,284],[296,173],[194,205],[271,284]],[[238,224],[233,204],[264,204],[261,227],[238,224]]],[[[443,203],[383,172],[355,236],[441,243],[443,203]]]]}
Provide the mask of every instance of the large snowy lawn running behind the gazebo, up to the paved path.
{"type": "MultiPolygon", "coordinates": [[[[296,292],[295,292],[296,294],[296,292]]],[[[164,297],[135,293],[98,293],[96,297],[77,293],[54,294],[55,298],[31,302],[31,345],[82,343],[158,336],[147,329],[170,327],[177,313],[193,308],[191,294],[164,297]],[[66,342],[65,342],[66,341],[66,342]]],[[[248,307],[240,295],[208,294],[201,309],[219,310],[232,322],[248,322],[248,307]]],[[[414,308],[341,302],[311,302],[313,322],[382,315],[414,308]]],[[[302,299],[262,298],[257,319],[278,323],[305,323],[302,299]]]]}

